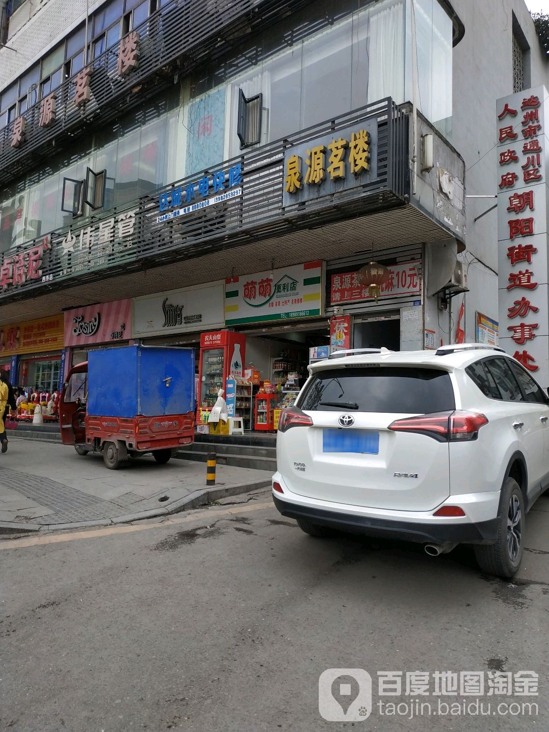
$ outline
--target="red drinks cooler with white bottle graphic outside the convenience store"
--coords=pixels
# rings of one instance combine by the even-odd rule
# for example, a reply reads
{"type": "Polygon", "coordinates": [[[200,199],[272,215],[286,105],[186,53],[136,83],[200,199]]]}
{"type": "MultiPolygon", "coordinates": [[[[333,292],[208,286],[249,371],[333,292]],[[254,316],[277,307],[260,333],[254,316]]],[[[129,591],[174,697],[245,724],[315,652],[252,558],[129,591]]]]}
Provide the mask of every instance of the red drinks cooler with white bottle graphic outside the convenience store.
{"type": "MultiPolygon", "coordinates": [[[[228,377],[244,375],[246,357],[246,336],[229,330],[202,333],[200,338],[200,364],[198,381],[200,389],[196,423],[200,424],[200,411],[210,410],[216,400],[218,389],[226,394],[228,377]]],[[[223,396],[225,396],[225,394],[223,396]]]]}

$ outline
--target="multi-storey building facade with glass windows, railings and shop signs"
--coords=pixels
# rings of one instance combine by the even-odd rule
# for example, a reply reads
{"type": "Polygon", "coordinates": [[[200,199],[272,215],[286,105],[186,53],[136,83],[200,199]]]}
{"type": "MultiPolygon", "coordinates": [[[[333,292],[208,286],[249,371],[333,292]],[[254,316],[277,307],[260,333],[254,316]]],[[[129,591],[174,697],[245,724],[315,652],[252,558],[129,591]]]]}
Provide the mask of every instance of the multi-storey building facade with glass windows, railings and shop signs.
{"type": "MultiPolygon", "coordinates": [[[[506,4],[512,32],[515,15],[526,29],[521,83],[541,83],[526,7],[506,4]]],[[[244,365],[275,381],[281,363],[299,378],[317,346],[474,340],[472,313],[497,320],[497,235],[493,214],[471,220],[490,201],[466,208],[466,168],[467,193],[472,180],[495,195],[482,156],[518,59],[511,31],[496,41],[476,12],[468,0],[4,4],[10,359],[38,315],[64,317],[60,378],[89,348],[198,348],[219,329],[245,335],[244,365]],[[389,269],[378,293],[372,261],[389,269]]]]}

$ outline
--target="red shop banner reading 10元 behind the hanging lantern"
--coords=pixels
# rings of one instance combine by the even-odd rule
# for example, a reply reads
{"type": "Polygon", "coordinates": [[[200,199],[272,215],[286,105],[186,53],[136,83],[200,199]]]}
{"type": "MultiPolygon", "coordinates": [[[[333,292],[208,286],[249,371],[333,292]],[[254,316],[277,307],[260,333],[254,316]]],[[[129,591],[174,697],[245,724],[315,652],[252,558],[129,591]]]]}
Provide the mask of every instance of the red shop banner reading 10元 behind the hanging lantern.
{"type": "MultiPolygon", "coordinates": [[[[380,287],[378,299],[406,295],[419,295],[422,291],[422,277],[418,263],[395,264],[387,267],[389,279],[380,287]]],[[[330,302],[332,305],[345,305],[346,302],[360,302],[373,298],[368,288],[360,281],[359,272],[338,272],[330,281],[330,302]]]]}

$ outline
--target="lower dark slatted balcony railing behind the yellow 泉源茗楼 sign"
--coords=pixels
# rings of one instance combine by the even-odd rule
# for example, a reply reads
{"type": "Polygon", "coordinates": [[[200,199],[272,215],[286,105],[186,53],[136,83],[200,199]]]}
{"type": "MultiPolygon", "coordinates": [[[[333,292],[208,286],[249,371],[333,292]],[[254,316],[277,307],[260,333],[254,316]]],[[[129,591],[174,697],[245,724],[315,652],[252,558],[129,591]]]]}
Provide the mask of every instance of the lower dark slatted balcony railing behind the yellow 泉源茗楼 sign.
{"type": "MultiPolygon", "coordinates": [[[[86,219],[78,227],[64,227],[53,232],[51,250],[45,253],[42,261],[44,281],[27,280],[0,291],[0,303],[7,299],[33,296],[37,290],[45,294],[67,285],[128,274],[143,266],[151,269],[155,265],[190,259],[216,250],[403,205],[405,196],[409,194],[408,116],[390,98],[381,100],[296,132],[283,140],[257,149],[247,149],[239,157],[220,163],[214,169],[227,170],[237,164],[242,165],[242,195],[228,198],[211,208],[198,209],[185,216],[157,223],[159,196],[167,190],[164,187],[155,195],[146,195],[124,207],[86,219]],[[346,190],[329,193],[328,189],[321,188],[318,198],[284,206],[285,152],[291,154],[291,149],[300,143],[315,141],[326,135],[337,137],[340,130],[350,126],[359,129],[359,125],[363,124],[369,124],[375,130],[376,147],[373,149],[376,154],[375,160],[371,161],[371,169],[376,174],[346,190]],[[78,251],[68,253],[67,234],[78,240],[81,231],[89,227],[97,230],[100,223],[113,218],[118,220],[121,214],[130,211],[135,212],[131,246],[121,246],[105,255],[100,266],[97,266],[97,257],[92,251],[97,244],[90,244],[83,256],[78,251]],[[78,264],[75,264],[77,260],[78,264]],[[72,269],[68,274],[67,265],[72,269]]],[[[202,174],[197,176],[195,173],[175,182],[173,187],[181,186],[185,190],[202,174]]],[[[18,254],[28,252],[29,246],[29,243],[22,244],[17,250],[6,253],[0,263],[0,273],[4,271],[1,265],[5,265],[7,258],[14,261],[18,254]]]]}

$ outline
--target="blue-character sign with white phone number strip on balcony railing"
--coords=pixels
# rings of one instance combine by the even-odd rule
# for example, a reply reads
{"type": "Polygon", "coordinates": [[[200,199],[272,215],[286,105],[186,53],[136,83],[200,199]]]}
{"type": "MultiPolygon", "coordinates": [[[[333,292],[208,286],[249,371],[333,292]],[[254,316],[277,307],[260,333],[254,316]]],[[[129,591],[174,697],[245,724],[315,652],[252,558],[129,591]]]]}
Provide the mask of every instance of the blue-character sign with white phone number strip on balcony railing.
{"type": "Polygon", "coordinates": [[[242,195],[242,164],[231,165],[228,171],[217,171],[210,178],[205,175],[187,185],[174,186],[160,193],[156,223],[171,221],[180,216],[207,209],[217,203],[230,201],[242,195]],[[213,194],[213,195],[212,195],[213,194]]]}

